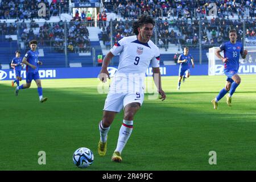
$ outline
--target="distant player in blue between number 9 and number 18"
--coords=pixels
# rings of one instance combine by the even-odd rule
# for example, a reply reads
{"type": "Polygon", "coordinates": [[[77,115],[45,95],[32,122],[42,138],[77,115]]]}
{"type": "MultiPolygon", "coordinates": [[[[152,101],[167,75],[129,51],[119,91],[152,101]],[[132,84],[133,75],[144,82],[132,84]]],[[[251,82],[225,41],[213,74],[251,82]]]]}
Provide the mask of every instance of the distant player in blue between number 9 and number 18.
{"type": "Polygon", "coordinates": [[[192,63],[192,68],[195,68],[194,59],[188,51],[188,47],[184,47],[183,54],[181,54],[177,60],[177,63],[180,63],[179,80],[177,85],[178,90],[180,89],[182,77],[184,82],[185,78],[190,76],[190,63],[192,63]]]}

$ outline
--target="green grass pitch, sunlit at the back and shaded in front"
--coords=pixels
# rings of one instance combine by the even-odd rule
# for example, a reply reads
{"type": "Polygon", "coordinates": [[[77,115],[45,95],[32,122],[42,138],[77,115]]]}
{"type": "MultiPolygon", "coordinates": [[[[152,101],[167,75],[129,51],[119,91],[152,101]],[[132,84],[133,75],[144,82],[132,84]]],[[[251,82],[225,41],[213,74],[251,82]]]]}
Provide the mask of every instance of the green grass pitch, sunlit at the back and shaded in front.
{"type": "Polygon", "coordinates": [[[96,78],[42,80],[43,104],[35,82],[16,97],[11,81],[0,81],[0,170],[256,170],[256,75],[241,78],[233,106],[222,98],[214,110],[210,101],[225,76],[191,76],[180,91],[177,77],[162,77],[167,99],[145,94],[122,163],[111,156],[123,112],[109,131],[106,156],[97,154],[106,94],[97,92],[96,78]],[[94,153],[89,168],[72,162],[79,147],[94,153]],[[38,164],[39,151],[46,152],[46,165],[38,164]],[[209,164],[209,151],[216,151],[217,164],[209,164]]]}

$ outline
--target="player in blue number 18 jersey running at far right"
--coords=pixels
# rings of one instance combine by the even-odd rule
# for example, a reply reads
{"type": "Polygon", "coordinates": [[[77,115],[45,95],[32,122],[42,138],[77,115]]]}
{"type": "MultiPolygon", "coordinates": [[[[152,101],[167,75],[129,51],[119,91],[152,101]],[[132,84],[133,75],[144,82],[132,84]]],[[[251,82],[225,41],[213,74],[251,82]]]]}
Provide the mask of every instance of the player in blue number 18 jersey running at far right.
{"type": "Polygon", "coordinates": [[[222,43],[215,52],[216,56],[225,63],[224,73],[227,76],[227,79],[225,87],[220,91],[218,96],[212,100],[214,109],[218,108],[218,101],[220,101],[228,92],[229,94],[226,96],[226,104],[228,104],[228,106],[232,106],[232,95],[236,91],[237,86],[241,83],[241,78],[237,74],[239,68],[239,57],[241,54],[242,58],[245,59],[247,50],[243,50],[243,44],[241,42],[237,42],[236,30],[229,31],[229,39],[229,42],[222,43]],[[224,51],[224,57],[220,55],[221,51],[224,51]]]}

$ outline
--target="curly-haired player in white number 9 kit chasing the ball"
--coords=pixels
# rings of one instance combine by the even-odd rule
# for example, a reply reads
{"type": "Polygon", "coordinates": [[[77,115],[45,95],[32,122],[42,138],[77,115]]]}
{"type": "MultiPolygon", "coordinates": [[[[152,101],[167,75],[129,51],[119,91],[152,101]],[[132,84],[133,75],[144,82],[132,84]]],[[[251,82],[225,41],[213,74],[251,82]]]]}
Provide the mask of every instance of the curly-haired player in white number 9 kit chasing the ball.
{"type": "Polygon", "coordinates": [[[124,110],[123,123],[119,130],[117,148],[112,156],[112,161],[121,162],[121,152],[133,130],[133,118],[141,108],[144,99],[143,82],[148,66],[152,66],[155,85],[158,88],[160,99],[166,99],[162,90],[161,76],[159,69],[160,52],[159,48],[150,40],[154,20],[147,15],[142,15],[133,24],[133,31],[136,35],[128,36],[119,40],[110,52],[104,57],[100,71],[100,80],[107,81],[109,77],[108,65],[110,60],[119,55],[118,70],[113,77],[108,96],[105,101],[102,120],[99,123],[100,142],[98,143],[98,154],[106,155],[106,144],[108,131],[115,114],[121,109],[124,110]]]}

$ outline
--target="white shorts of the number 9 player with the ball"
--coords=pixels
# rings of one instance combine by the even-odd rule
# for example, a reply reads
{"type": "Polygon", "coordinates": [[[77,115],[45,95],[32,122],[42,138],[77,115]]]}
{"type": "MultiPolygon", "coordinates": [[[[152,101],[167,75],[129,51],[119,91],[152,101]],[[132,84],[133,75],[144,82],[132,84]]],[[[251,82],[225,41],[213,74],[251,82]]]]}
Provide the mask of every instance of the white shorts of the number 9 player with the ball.
{"type": "Polygon", "coordinates": [[[122,108],[125,108],[127,104],[138,102],[143,103],[144,93],[143,92],[127,92],[127,93],[117,93],[109,92],[105,100],[104,109],[106,111],[114,111],[119,113],[122,108]]]}

